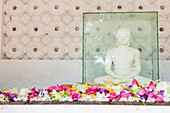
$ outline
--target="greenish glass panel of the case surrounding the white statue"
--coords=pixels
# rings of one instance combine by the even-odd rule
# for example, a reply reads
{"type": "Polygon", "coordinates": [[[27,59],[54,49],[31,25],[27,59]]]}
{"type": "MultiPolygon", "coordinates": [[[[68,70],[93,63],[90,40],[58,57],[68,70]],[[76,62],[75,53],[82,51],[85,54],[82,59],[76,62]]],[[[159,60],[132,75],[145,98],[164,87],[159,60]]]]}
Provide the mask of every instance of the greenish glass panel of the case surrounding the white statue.
{"type": "Polygon", "coordinates": [[[130,30],[130,47],[140,51],[140,76],[159,79],[157,12],[84,13],[83,18],[83,82],[107,75],[106,52],[117,47],[120,28],[130,30]]]}

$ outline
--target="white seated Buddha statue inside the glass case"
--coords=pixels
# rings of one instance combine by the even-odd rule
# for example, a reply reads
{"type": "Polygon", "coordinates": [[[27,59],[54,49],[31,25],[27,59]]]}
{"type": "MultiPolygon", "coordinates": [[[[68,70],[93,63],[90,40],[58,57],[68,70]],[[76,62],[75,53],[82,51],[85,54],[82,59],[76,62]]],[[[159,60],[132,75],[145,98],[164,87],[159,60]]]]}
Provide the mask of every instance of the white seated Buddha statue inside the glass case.
{"type": "Polygon", "coordinates": [[[119,28],[116,34],[117,47],[110,49],[105,57],[106,76],[98,77],[95,83],[104,84],[105,81],[115,83],[123,79],[120,84],[130,84],[136,79],[141,84],[152,81],[139,76],[141,72],[141,58],[139,50],[129,47],[131,32],[126,28],[119,28]],[[113,70],[112,70],[113,65],[113,70]]]}

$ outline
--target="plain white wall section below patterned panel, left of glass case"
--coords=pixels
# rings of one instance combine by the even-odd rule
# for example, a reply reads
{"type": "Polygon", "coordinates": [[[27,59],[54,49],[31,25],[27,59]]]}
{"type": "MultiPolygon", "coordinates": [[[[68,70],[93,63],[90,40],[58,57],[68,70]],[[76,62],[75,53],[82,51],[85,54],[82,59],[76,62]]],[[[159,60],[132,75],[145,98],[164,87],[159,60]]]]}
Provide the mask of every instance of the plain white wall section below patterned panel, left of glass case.
{"type": "Polygon", "coordinates": [[[48,88],[82,81],[80,60],[0,61],[0,88],[48,88]]]}

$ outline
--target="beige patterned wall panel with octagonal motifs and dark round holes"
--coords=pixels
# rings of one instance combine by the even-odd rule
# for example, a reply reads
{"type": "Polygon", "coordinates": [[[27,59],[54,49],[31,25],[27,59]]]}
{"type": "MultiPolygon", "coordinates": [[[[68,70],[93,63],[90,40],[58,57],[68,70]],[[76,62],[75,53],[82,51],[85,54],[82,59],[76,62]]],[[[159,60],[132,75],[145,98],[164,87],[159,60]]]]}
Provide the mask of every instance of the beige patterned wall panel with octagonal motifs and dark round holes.
{"type": "Polygon", "coordinates": [[[81,59],[83,12],[158,11],[170,59],[170,0],[5,0],[4,59],[81,59]]]}

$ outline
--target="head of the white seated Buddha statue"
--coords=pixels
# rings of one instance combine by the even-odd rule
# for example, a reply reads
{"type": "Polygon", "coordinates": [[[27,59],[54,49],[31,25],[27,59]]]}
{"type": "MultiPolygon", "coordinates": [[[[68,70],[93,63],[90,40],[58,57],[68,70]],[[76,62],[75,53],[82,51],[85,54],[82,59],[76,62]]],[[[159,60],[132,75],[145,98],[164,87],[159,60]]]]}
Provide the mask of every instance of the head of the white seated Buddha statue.
{"type": "Polygon", "coordinates": [[[131,31],[127,28],[119,28],[116,34],[117,46],[129,46],[131,31]]]}

